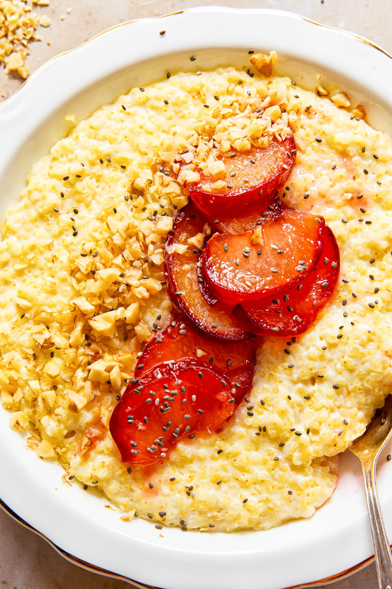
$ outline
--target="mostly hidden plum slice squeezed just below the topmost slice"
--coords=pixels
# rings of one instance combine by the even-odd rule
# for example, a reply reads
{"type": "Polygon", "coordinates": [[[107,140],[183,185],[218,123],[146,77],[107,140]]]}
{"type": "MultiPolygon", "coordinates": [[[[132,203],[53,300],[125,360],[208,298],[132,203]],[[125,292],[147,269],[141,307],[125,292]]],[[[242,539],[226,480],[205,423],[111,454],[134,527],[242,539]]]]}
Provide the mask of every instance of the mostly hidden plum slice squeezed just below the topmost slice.
{"type": "Polygon", "coordinates": [[[222,219],[222,217],[207,217],[207,219],[212,231],[219,231],[219,233],[246,233],[246,231],[253,231],[256,227],[273,221],[282,214],[282,210],[279,195],[275,194],[269,202],[253,213],[233,217],[233,219],[222,219]]]}

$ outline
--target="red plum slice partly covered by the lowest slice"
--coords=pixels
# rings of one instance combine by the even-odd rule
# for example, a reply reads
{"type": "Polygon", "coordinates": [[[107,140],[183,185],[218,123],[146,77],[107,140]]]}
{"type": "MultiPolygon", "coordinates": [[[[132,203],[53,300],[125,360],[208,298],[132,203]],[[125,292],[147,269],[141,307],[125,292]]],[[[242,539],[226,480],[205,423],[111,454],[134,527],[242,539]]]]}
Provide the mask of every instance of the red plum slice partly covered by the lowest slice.
{"type": "Polygon", "coordinates": [[[135,369],[135,379],[162,362],[198,358],[200,363],[224,372],[233,383],[236,403],[240,403],[252,384],[257,339],[246,342],[218,343],[206,339],[175,317],[172,325],[158,332],[143,349],[135,369]]]}

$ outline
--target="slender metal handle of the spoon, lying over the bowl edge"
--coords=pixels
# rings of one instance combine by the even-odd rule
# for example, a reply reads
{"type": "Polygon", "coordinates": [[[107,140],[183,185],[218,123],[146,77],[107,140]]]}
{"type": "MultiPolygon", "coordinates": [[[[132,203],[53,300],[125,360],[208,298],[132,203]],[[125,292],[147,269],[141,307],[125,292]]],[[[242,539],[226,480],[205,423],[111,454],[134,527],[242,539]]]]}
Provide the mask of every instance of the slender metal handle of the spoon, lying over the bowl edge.
{"type": "Polygon", "coordinates": [[[370,519],[371,535],[373,537],[374,558],[376,560],[378,589],[392,588],[392,557],[391,549],[384,528],[378,500],[376,483],[376,459],[370,464],[363,465],[363,481],[367,510],[370,519]]]}

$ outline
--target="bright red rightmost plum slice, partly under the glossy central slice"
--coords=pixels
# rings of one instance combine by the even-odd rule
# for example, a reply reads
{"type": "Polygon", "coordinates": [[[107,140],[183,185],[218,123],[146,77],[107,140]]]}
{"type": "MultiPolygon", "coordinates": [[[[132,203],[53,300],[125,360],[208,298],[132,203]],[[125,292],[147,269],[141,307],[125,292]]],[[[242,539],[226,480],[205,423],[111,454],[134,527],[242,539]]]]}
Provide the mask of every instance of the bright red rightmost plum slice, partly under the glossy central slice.
{"type": "Polygon", "coordinates": [[[334,234],[326,227],[323,249],[314,270],[297,286],[280,292],[276,299],[244,305],[242,312],[253,323],[258,335],[299,335],[310,327],[329,301],[339,270],[339,247],[334,234]]]}

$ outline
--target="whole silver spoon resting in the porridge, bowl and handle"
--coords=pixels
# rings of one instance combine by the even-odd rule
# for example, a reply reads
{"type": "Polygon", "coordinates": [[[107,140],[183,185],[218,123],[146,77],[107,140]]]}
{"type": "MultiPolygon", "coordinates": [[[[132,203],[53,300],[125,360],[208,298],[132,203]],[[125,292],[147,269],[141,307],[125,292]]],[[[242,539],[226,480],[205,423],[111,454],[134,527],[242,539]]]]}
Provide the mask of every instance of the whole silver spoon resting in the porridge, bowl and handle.
{"type": "Polygon", "coordinates": [[[381,450],[392,435],[392,396],[388,395],[383,409],[376,413],[366,432],[354,441],[349,450],[360,459],[365,485],[367,511],[373,537],[378,589],[392,589],[392,557],[381,515],[376,482],[376,464],[381,450]]]}

